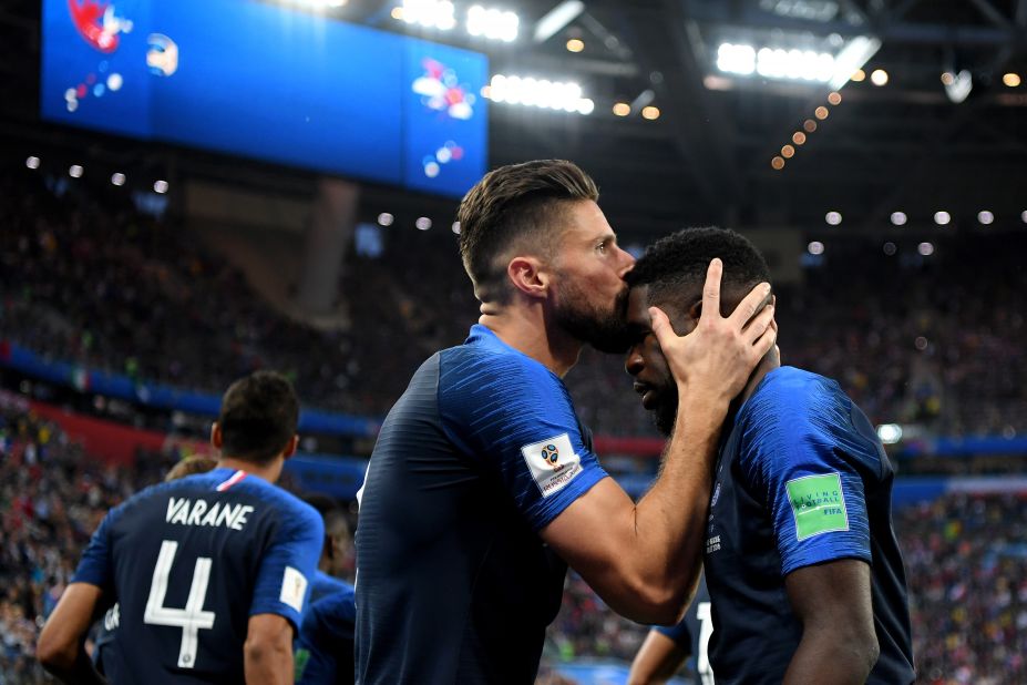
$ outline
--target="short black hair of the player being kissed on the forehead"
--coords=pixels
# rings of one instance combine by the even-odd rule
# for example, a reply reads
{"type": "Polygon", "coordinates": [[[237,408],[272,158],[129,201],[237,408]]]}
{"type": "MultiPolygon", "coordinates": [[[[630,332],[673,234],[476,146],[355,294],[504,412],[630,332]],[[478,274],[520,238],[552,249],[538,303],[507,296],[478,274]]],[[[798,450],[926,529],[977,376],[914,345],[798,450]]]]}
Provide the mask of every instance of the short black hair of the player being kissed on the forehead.
{"type": "Polygon", "coordinates": [[[723,262],[720,282],[721,314],[730,314],[738,301],[760,283],[770,283],[770,268],[749,238],[730,228],[713,226],[684,228],[660,238],[646,249],[628,272],[631,287],[649,286],[649,301],[659,303],[688,297],[691,290],[701,297],[710,262],[723,262]]]}

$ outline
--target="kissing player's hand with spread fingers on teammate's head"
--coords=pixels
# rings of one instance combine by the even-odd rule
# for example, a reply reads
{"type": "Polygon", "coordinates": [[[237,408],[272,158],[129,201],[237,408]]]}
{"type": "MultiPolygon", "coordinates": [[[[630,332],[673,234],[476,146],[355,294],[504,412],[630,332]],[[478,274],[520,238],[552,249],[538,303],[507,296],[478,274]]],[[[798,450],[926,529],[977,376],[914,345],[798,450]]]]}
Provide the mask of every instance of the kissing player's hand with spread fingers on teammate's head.
{"type": "Polygon", "coordinates": [[[727,318],[720,316],[723,264],[710,262],[702,287],[702,313],[687,336],[679,336],[659,307],[650,307],[651,328],[681,399],[730,402],[777,339],[770,284],[761,283],[727,318]]]}

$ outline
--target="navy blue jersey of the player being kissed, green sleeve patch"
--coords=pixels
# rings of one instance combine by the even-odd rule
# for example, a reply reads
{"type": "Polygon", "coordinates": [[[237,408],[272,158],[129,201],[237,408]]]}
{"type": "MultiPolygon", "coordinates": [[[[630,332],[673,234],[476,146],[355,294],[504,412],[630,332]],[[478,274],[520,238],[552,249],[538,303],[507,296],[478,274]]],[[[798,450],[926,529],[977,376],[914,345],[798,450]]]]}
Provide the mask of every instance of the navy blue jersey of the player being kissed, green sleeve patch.
{"type": "Polygon", "coordinates": [[[881,656],[869,683],[912,683],[894,472],[873,427],[833,380],[772,370],[738,411],[710,500],[706,581],[717,683],[780,683],[802,636],[784,576],[859,559],[871,568],[881,656]]]}

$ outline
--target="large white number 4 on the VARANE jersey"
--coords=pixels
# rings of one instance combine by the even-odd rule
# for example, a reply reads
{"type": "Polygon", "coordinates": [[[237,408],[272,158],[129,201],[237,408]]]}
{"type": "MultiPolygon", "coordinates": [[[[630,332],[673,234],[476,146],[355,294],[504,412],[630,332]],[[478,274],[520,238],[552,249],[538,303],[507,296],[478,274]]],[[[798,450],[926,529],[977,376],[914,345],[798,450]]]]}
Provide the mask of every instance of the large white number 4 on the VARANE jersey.
{"type": "Polygon", "coordinates": [[[164,597],[167,594],[167,577],[177,551],[178,543],[173,540],[165,540],[161,543],[161,553],[157,555],[157,565],[153,570],[153,582],[150,585],[150,599],[146,601],[143,622],[151,625],[181,627],[182,646],[178,648],[178,667],[193,668],[196,666],[199,630],[214,627],[214,612],[203,610],[204,600],[207,596],[207,584],[210,582],[212,562],[207,556],[196,560],[196,568],[193,570],[193,585],[189,587],[189,597],[185,602],[185,609],[170,609],[164,606],[164,597]]]}

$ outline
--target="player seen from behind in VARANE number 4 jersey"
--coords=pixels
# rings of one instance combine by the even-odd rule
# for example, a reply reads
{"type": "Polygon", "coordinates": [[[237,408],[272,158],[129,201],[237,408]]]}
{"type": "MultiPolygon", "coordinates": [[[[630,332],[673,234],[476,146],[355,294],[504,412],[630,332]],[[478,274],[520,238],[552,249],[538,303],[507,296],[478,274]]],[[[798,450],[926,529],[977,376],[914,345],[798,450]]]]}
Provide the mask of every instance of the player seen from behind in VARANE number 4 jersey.
{"type": "Polygon", "coordinates": [[[299,406],[278,374],[225,393],[218,468],[150,487],[111,510],[40,634],[65,682],[102,682],[83,648],[117,602],[113,669],[125,683],[288,683],[292,636],[323,542],[307,504],[276,488],[296,450],[299,406]]]}

